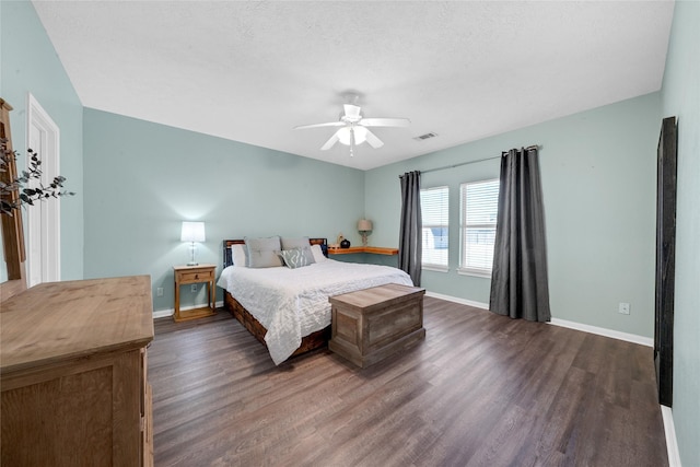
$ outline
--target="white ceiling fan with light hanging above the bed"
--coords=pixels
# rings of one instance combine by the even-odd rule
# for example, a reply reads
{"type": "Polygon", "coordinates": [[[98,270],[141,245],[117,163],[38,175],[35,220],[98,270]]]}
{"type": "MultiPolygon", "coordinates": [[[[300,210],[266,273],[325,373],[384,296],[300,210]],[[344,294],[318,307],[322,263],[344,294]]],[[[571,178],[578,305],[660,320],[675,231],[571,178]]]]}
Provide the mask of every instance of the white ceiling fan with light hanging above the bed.
{"type": "Polygon", "coordinates": [[[320,147],[322,151],[329,150],[338,141],[341,144],[350,147],[350,155],[353,154],[353,149],[358,144],[368,142],[372,148],[377,149],[384,145],[381,139],[376,137],[369,127],[408,127],[410,120],[408,118],[364,118],[362,116],[362,108],[357,105],[358,95],[351,94],[348,97],[348,104],[343,104],[343,110],[340,113],[338,121],[329,121],[326,124],[313,124],[302,125],[294,127],[295,130],[303,130],[306,128],[320,128],[320,127],[340,127],[324,145],[320,147]]]}

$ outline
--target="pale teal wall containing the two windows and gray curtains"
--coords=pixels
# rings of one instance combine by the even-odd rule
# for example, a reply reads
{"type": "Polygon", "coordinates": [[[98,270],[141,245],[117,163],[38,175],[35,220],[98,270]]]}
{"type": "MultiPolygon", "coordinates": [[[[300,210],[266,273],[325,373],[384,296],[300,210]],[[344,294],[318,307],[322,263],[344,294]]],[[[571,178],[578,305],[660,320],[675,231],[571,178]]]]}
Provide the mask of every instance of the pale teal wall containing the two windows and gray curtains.
{"type": "MultiPolygon", "coordinates": [[[[369,171],[365,212],[396,245],[398,175],[498,156],[540,144],[552,316],[653,337],[656,142],[661,98],[653,93],[369,171]],[[618,303],[631,303],[631,314],[618,303]]],[[[456,272],[459,184],[499,176],[493,159],[429,172],[421,186],[450,187],[450,271],[423,271],[431,292],[488,303],[490,280],[456,272]]]]}

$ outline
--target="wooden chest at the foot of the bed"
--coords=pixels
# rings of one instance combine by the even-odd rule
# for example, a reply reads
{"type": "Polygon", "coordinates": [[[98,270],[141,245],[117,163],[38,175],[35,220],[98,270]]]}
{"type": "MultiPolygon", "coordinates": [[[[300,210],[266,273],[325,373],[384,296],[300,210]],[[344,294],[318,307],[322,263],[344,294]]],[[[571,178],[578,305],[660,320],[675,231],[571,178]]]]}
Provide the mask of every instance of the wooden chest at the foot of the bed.
{"type": "Polygon", "coordinates": [[[390,283],[343,293],[331,304],[328,348],[369,366],[425,338],[424,289],[390,283]]]}

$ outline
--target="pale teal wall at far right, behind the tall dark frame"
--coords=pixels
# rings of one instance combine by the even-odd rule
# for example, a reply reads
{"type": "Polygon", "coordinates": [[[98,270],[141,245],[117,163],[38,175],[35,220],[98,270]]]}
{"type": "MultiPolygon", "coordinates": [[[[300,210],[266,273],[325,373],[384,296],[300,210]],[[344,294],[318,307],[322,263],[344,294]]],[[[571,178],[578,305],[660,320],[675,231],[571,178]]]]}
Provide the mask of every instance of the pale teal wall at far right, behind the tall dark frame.
{"type": "Polygon", "coordinates": [[[700,2],[677,1],[663,116],[678,117],[673,415],[680,460],[700,466],[700,2]]]}

